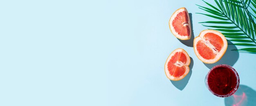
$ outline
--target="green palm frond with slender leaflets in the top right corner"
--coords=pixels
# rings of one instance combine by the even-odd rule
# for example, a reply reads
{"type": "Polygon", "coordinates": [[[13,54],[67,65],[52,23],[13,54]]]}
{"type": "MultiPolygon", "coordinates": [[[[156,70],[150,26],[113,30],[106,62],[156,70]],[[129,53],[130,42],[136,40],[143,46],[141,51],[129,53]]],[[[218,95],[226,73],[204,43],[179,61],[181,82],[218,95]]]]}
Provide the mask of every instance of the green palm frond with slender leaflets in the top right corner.
{"type": "Polygon", "coordinates": [[[202,1],[209,7],[197,5],[199,9],[207,12],[198,14],[219,20],[200,22],[202,26],[222,32],[232,42],[231,45],[244,47],[235,51],[256,53],[256,48],[251,48],[256,46],[256,0],[214,0],[216,6],[202,1]]]}

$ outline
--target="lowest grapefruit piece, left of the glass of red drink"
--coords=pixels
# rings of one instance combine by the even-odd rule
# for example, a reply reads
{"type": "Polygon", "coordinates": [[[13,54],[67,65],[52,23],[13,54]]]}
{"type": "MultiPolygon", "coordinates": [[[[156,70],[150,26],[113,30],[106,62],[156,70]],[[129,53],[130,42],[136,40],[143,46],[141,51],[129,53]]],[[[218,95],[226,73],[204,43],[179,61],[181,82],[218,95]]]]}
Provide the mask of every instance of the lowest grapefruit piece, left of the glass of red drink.
{"type": "Polygon", "coordinates": [[[182,48],[174,50],[167,58],[164,71],[168,79],[181,80],[189,74],[190,57],[182,48]]]}

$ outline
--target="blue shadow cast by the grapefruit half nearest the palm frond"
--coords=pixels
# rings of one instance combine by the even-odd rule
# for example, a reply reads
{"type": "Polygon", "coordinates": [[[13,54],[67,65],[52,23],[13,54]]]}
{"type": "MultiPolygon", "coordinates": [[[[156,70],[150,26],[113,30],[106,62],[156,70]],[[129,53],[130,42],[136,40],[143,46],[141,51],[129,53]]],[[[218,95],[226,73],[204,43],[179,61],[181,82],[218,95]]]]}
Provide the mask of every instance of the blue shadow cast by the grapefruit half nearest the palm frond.
{"type": "MultiPolygon", "coordinates": [[[[232,44],[230,41],[227,41],[227,43],[232,44]]],[[[224,56],[222,56],[222,58],[219,61],[217,61],[216,63],[213,63],[213,64],[204,63],[204,65],[206,67],[208,67],[209,69],[211,69],[212,67],[214,67],[216,65],[220,65],[220,64],[227,64],[227,65],[233,66],[239,57],[238,51],[231,51],[231,50],[235,50],[235,49],[237,49],[235,45],[228,45],[226,53],[224,54],[224,56]]]]}

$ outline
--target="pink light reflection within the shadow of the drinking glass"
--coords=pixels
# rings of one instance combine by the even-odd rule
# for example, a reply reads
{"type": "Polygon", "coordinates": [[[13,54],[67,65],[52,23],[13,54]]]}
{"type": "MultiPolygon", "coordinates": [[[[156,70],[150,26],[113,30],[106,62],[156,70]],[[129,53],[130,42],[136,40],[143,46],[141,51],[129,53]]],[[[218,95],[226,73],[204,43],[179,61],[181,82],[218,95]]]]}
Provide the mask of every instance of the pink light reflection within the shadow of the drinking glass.
{"type": "Polygon", "coordinates": [[[242,95],[235,95],[233,94],[234,97],[234,104],[232,106],[244,106],[247,102],[247,96],[246,94],[243,92],[242,95]]]}

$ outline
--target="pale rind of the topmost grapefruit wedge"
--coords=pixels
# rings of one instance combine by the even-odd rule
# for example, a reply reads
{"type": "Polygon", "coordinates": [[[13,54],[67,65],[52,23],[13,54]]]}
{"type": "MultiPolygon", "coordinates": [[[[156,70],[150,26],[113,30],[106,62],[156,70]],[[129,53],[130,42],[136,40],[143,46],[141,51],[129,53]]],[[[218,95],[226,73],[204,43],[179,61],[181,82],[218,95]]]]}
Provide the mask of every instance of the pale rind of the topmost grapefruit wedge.
{"type": "Polygon", "coordinates": [[[171,32],[173,33],[173,35],[178,38],[178,39],[181,39],[181,40],[189,40],[191,38],[191,23],[190,23],[190,18],[189,18],[189,13],[188,11],[186,10],[185,7],[182,7],[180,9],[177,9],[173,15],[171,16],[170,20],[169,20],[169,28],[171,30],[171,32]],[[173,27],[173,20],[174,18],[177,16],[178,13],[182,12],[182,11],[186,11],[187,13],[187,16],[188,16],[188,26],[189,26],[189,29],[190,29],[190,34],[189,36],[182,36],[182,35],[179,35],[178,32],[175,31],[174,27],[173,27]]]}

